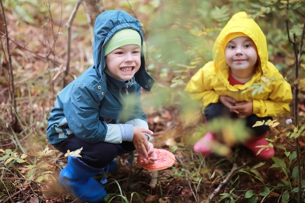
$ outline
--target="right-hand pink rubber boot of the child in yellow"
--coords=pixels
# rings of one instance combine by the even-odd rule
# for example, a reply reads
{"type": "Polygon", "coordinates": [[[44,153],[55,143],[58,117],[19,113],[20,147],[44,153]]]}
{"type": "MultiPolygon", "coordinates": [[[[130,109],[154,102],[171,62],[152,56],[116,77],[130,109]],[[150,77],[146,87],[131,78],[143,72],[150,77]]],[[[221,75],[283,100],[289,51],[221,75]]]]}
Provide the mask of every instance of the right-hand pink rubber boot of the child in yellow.
{"type": "Polygon", "coordinates": [[[268,146],[269,143],[265,139],[266,134],[255,137],[247,143],[243,143],[260,160],[268,160],[274,155],[274,149],[268,146]]]}

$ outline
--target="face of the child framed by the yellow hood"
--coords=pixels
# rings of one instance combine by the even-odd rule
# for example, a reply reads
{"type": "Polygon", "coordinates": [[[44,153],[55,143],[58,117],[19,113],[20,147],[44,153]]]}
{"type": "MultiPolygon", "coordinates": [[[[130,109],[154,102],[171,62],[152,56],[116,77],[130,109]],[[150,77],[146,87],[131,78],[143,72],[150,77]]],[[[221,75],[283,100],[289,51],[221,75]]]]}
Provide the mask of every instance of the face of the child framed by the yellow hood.
{"type": "Polygon", "coordinates": [[[235,71],[253,73],[258,59],[256,46],[249,37],[236,37],[228,42],[225,49],[226,61],[235,71]]]}

